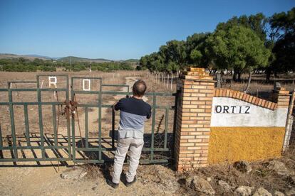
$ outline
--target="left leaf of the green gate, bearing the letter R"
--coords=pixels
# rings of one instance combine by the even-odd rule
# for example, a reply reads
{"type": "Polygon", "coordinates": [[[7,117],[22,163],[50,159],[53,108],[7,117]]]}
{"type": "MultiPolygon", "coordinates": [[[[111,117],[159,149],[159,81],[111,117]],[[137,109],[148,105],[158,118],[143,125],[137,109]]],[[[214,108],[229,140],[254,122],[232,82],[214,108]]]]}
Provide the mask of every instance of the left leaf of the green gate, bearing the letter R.
{"type": "MultiPolygon", "coordinates": [[[[12,81],[8,82],[7,89],[0,89],[0,92],[8,92],[9,102],[0,102],[0,105],[9,106],[9,116],[11,121],[11,136],[12,136],[12,145],[11,146],[3,146],[2,141],[2,133],[0,128],[0,151],[1,157],[0,162],[18,162],[18,161],[68,161],[71,160],[71,141],[68,139],[68,146],[58,146],[57,143],[57,130],[56,130],[56,106],[57,105],[66,105],[65,102],[42,102],[41,101],[41,92],[66,92],[66,101],[68,101],[68,88],[40,88],[39,77],[53,76],[53,75],[36,75],[36,81],[12,81]],[[36,83],[37,88],[30,89],[13,89],[10,88],[12,83],[36,83]],[[12,97],[12,92],[37,92],[37,102],[14,102],[12,97]],[[20,105],[24,106],[24,121],[25,121],[25,129],[26,129],[26,142],[27,146],[18,146],[16,143],[16,129],[14,124],[14,106],[20,105]],[[29,105],[37,105],[38,106],[38,120],[39,120],[39,129],[40,129],[40,138],[41,138],[41,146],[31,146],[30,136],[29,136],[29,115],[28,115],[28,106],[29,105]],[[52,106],[52,114],[53,114],[53,133],[54,133],[54,145],[53,146],[45,146],[44,145],[44,133],[43,133],[43,116],[42,116],[42,106],[43,105],[51,105],[52,106]],[[58,154],[58,149],[66,148],[68,150],[67,158],[48,158],[46,157],[45,150],[52,149],[55,153],[58,154]],[[19,158],[18,150],[34,150],[41,149],[41,158],[19,158]],[[14,158],[4,158],[2,154],[2,150],[11,150],[13,151],[14,158]]],[[[65,77],[66,78],[66,87],[68,87],[68,75],[54,75],[56,77],[65,77]]],[[[70,136],[70,122],[67,119],[67,134],[68,138],[70,136]]]]}

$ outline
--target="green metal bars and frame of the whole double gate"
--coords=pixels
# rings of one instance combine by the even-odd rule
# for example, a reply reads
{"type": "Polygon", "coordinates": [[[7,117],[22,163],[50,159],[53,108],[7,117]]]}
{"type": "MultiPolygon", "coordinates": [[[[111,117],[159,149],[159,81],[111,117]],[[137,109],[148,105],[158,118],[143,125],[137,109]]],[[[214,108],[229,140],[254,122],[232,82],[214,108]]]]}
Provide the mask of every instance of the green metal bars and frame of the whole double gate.
{"type": "MultiPolygon", "coordinates": [[[[12,136],[12,145],[11,146],[3,146],[2,141],[2,133],[1,133],[1,126],[0,126],[0,162],[19,162],[19,161],[68,161],[73,160],[74,163],[105,163],[105,160],[102,158],[103,151],[114,151],[115,150],[115,112],[112,112],[112,148],[103,148],[102,141],[101,141],[101,109],[102,108],[110,108],[112,105],[110,104],[102,104],[102,96],[104,94],[111,94],[111,95],[125,95],[130,96],[133,93],[129,91],[128,85],[103,85],[103,81],[101,77],[71,77],[71,101],[69,99],[69,89],[68,89],[68,75],[37,75],[36,81],[16,81],[16,82],[8,82],[7,89],[0,89],[0,92],[8,92],[9,94],[9,102],[0,102],[0,105],[9,106],[9,114],[10,114],[10,121],[11,121],[11,136],[12,136]],[[67,88],[40,88],[39,78],[40,77],[48,77],[48,76],[56,76],[56,77],[65,77],[66,78],[66,87],[67,88]],[[81,79],[88,79],[88,80],[98,80],[99,81],[99,89],[94,91],[81,91],[75,90],[73,85],[75,80],[81,79]],[[36,83],[36,88],[30,89],[13,89],[10,88],[11,83],[36,83]],[[115,91],[103,91],[103,87],[127,87],[127,92],[115,92],[115,91]],[[65,102],[42,102],[41,100],[41,92],[66,92],[66,100],[65,102]],[[37,102],[14,102],[12,97],[12,92],[37,92],[37,102]],[[98,95],[98,104],[79,104],[73,103],[76,102],[75,96],[76,94],[97,94],[98,95]],[[70,103],[70,104],[69,104],[70,103]],[[72,105],[71,105],[72,104],[72,105]],[[14,125],[14,105],[22,105],[24,106],[24,121],[25,121],[25,136],[27,146],[18,146],[16,143],[16,131],[14,125]],[[41,146],[31,146],[30,144],[30,131],[29,131],[29,115],[28,115],[28,106],[29,105],[37,105],[38,106],[38,123],[40,129],[40,137],[41,137],[41,146]],[[43,105],[51,105],[52,106],[52,114],[53,114],[53,133],[54,133],[54,145],[52,146],[44,146],[44,133],[43,133],[43,118],[42,118],[42,106],[43,105]],[[71,105],[72,111],[75,110],[75,107],[83,107],[84,114],[85,114],[85,141],[86,145],[82,148],[76,146],[76,131],[75,131],[75,114],[70,115],[70,118],[66,119],[66,126],[67,126],[67,138],[68,138],[68,145],[67,146],[58,146],[57,145],[57,137],[58,133],[56,130],[56,106],[62,105],[65,107],[69,107],[71,105]],[[98,107],[98,146],[97,148],[89,148],[88,146],[88,109],[89,107],[98,107]],[[71,121],[71,122],[70,122],[71,121]],[[52,149],[58,153],[58,149],[64,148],[68,150],[68,157],[61,158],[48,158],[46,157],[45,150],[52,149]],[[22,149],[41,149],[41,158],[19,158],[18,157],[18,150],[22,149]],[[2,150],[11,150],[11,154],[13,158],[4,158],[2,154],[2,150]],[[76,152],[77,151],[97,151],[98,152],[98,159],[86,159],[86,158],[77,158],[76,152]],[[13,153],[12,153],[13,152],[13,153]],[[2,156],[1,156],[2,155],[2,156]]],[[[150,152],[150,158],[145,160],[140,160],[140,163],[168,163],[171,159],[155,159],[154,155],[157,151],[173,151],[167,146],[167,134],[168,134],[168,119],[169,119],[169,110],[175,109],[176,114],[176,107],[175,106],[161,106],[157,105],[157,97],[159,96],[175,96],[175,104],[177,103],[177,93],[165,93],[165,92],[148,92],[145,95],[152,96],[152,130],[151,130],[151,146],[150,148],[143,148],[143,152],[150,152]],[[164,128],[164,147],[163,148],[155,148],[155,114],[157,109],[165,109],[165,128],[164,128]]],[[[176,116],[176,115],[175,115],[176,116]]],[[[174,119],[175,119],[174,116],[174,119]]],[[[175,129],[175,125],[173,126],[175,129]]],[[[175,131],[173,130],[173,134],[175,131]]],[[[174,139],[174,137],[173,137],[174,139]]],[[[83,141],[82,141],[83,142],[83,141]]],[[[173,142],[173,141],[172,141],[173,142]]]]}

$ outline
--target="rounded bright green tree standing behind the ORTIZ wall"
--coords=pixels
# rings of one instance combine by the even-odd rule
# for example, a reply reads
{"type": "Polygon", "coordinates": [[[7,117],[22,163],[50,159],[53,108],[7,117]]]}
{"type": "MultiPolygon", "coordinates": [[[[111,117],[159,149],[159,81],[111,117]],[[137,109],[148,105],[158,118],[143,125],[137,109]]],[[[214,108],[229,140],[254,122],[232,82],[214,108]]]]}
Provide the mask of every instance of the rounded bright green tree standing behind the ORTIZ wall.
{"type": "Polygon", "coordinates": [[[266,67],[270,51],[264,41],[250,28],[234,25],[218,29],[207,40],[208,52],[219,69],[251,73],[257,67],[266,67]]]}

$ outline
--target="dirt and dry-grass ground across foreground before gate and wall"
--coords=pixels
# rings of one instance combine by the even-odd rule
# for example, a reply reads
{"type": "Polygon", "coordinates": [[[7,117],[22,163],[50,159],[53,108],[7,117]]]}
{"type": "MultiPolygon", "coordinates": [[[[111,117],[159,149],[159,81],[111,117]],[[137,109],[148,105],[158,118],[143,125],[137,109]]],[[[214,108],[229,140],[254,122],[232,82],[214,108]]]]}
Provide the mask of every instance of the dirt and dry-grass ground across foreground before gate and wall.
{"type": "MultiPolygon", "coordinates": [[[[276,191],[295,194],[294,148],[281,158],[252,162],[250,167],[249,172],[244,172],[224,163],[177,173],[171,165],[140,165],[137,182],[126,187],[123,178],[118,189],[105,182],[112,165],[84,166],[87,175],[78,180],[61,178],[68,169],[65,166],[0,167],[0,195],[206,195],[187,185],[194,176],[207,180],[215,195],[236,195],[234,190],[240,186],[252,187],[252,194],[260,187],[273,195],[276,191]],[[269,168],[273,161],[281,163],[280,168],[269,168]],[[229,192],[225,192],[220,180],[228,183],[229,192]]],[[[127,165],[124,170],[128,170],[127,165]]]]}

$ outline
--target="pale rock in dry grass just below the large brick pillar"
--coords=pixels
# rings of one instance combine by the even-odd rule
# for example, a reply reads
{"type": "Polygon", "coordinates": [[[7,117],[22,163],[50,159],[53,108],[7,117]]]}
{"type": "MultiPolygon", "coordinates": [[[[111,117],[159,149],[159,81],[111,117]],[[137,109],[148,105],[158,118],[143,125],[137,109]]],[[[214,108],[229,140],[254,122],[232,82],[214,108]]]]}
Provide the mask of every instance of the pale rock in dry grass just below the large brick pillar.
{"type": "Polygon", "coordinates": [[[214,195],[215,191],[207,180],[197,175],[187,178],[187,187],[194,189],[197,192],[204,193],[206,195],[214,195]]]}

